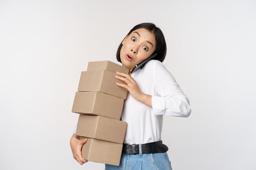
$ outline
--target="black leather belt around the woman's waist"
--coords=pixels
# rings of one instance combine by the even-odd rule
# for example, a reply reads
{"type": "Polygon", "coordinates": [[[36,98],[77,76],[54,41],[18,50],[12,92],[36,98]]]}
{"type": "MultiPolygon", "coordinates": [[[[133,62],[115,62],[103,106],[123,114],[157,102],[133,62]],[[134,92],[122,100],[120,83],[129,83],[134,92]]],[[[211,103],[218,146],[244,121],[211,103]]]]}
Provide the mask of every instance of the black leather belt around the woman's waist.
{"type": "MultiPolygon", "coordinates": [[[[141,153],[164,153],[167,152],[168,147],[162,144],[162,141],[152,142],[148,144],[141,144],[141,153]]],[[[122,154],[139,154],[139,144],[124,144],[122,154]]]]}

